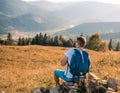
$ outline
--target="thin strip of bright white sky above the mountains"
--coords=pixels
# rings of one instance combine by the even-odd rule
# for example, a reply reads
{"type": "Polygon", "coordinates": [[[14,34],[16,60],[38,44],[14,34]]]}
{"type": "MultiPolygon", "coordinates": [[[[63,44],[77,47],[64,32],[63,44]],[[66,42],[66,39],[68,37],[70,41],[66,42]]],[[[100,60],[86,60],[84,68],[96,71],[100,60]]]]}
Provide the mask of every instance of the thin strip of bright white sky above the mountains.
{"type": "MultiPolygon", "coordinates": [[[[22,1],[40,1],[40,0],[22,0],[22,1]]],[[[44,1],[44,0],[43,0],[44,1]]],[[[112,4],[120,4],[120,0],[46,0],[49,2],[61,3],[61,2],[81,2],[81,1],[96,1],[96,2],[103,2],[103,3],[112,3],[112,4]]]]}

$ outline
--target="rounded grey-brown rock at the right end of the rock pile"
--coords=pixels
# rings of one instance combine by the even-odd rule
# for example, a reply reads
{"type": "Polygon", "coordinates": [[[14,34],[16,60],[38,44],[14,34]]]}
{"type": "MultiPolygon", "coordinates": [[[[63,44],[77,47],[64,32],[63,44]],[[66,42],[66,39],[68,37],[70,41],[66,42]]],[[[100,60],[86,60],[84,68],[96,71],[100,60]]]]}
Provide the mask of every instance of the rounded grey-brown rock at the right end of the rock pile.
{"type": "Polygon", "coordinates": [[[109,78],[107,81],[107,85],[109,88],[115,90],[115,92],[118,91],[118,80],[116,78],[109,78]]]}

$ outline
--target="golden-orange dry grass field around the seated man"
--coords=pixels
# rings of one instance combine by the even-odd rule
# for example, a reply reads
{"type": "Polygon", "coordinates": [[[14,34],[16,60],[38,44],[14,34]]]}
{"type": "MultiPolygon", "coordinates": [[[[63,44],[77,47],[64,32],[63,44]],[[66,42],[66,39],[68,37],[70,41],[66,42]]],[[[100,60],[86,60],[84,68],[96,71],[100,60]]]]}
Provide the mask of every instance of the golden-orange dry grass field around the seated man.
{"type": "MultiPolygon", "coordinates": [[[[70,48],[49,46],[0,46],[0,92],[29,93],[38,87],[53,87],[53,71],[64,69],[60,60],[70,48]]],[[[91,72],[100,79],[120,79],[120,52],[95,52],[91,72]]],[[[120,82],[119,82],[120,84],[120,82]]]]}

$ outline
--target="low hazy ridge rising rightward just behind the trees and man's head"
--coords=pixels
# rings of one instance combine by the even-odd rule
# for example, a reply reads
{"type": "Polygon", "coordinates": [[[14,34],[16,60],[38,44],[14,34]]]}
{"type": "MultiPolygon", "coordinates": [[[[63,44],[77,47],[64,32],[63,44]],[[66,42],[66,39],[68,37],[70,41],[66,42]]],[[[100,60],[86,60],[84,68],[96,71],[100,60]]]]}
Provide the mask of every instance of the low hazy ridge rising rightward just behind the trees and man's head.
{"type": "Polygon", "coordinates": [[[102,34],[103,39],[119,38],[120,37],[120,22],[96,22],[83,23],[75,27],[56,32],[54,35],[63,35],[69,37],[76,37],[83,33],[84,35],[91,35],[93,33],[102,34]]]}

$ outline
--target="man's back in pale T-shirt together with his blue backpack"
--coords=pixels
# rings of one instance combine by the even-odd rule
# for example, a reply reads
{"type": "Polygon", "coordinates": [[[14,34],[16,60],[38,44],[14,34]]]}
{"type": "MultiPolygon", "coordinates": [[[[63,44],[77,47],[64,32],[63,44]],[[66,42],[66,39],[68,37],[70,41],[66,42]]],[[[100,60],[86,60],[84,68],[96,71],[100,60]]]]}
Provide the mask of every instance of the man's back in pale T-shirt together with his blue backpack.
{"type": "Polygon", "coordinates": [[[84,75],[89,72],[90,60],[86,51],[76,48],[68,50],[65,55],[68,57],[68,67],[64,73],[66,77],[73,78],[73,75],[79,75],[80,72],[84,75]]]}

